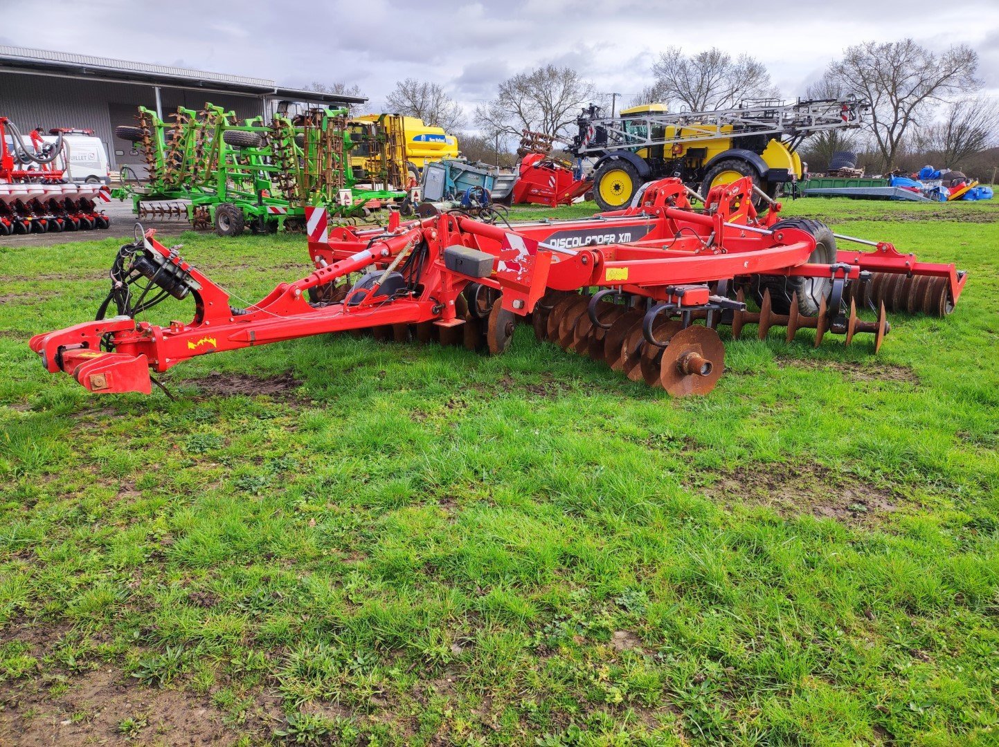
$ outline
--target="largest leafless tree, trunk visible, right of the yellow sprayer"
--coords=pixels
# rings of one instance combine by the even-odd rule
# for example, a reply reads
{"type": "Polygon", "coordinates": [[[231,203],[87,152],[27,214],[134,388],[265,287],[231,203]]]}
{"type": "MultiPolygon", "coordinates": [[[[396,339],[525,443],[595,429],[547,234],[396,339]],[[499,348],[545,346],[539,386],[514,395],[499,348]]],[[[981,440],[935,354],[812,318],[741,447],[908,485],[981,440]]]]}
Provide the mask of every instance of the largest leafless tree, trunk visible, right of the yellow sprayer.
{"type": "Polygon", "coordinates": [[[890,170],[910,128],[928,107],[980,86],[977,68],[978,55],[966,45],[937,55],[903,39],[849,47],[842,60],[830,65],[827,76],[842,91],[871,103],[870,130],[883,166],[890,170]]]}

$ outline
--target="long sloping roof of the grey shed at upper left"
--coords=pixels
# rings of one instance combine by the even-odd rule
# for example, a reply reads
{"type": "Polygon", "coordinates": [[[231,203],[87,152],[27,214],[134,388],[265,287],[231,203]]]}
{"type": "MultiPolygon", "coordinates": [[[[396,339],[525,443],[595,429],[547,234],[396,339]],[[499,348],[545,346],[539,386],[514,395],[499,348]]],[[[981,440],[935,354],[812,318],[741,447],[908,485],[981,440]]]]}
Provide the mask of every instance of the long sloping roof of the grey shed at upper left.
{"type": "Polygon", "coordinates": [[[203,88],[290,101],[315,101],[326,104],[363,104],[368,101],[363,96],[285,88],[279,86],[276,81],[266,78],[210,73],[204,70],[129,62],[110,57],[94,57],[71,52],[51,52],[44,49],[0,45],[0,71],[3,70],[41,75],[46,73],[69,75],[74,78],[93,78],[119,83],[143,83],[150,86],[203,88]]]}

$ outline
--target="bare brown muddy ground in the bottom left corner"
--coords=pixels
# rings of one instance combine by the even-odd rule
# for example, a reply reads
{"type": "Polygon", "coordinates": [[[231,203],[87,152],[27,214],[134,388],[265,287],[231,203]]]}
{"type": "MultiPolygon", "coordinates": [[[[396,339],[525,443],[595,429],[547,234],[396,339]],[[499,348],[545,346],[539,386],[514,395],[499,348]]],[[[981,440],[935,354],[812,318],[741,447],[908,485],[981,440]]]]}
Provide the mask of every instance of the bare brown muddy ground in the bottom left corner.
{"type": "Polygon", "coordinates": [[[135,683],[121,670],[69,677],[59,695],[33,680],[0,684],[0,743],[229,744],[233,736],[207,701],[135,683]]]}

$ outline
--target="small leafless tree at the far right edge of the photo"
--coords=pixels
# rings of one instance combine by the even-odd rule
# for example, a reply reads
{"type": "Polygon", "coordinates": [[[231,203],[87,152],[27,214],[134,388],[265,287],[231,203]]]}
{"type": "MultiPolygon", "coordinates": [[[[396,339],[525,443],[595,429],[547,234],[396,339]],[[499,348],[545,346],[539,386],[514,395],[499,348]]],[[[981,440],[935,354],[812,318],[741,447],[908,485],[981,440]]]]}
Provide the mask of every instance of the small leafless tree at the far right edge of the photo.
{"type": "Polygon", "coordinates": [[[993,99],[959,99],[951,104],[943,118],[923,128],[916,137],[916,147],[939,157],[940,166],[956,169],[972,156],[999,144],[995,123],[999,106],[993,99]]]}

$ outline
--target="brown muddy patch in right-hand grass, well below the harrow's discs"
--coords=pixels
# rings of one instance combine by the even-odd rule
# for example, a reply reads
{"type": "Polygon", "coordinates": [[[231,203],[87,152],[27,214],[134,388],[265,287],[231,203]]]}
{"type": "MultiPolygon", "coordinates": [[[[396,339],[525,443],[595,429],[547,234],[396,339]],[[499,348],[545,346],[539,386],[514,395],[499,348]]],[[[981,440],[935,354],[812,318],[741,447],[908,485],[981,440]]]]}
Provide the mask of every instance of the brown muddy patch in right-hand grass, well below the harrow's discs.
{"type": "Polygon", "coordinates": [[[782,516],[811,514],[847,524],[877,521],[898,510],[904,500],[890,489],[816,463],[740,466],[699,489],[727,507],[766,505],[782,516]]]}

